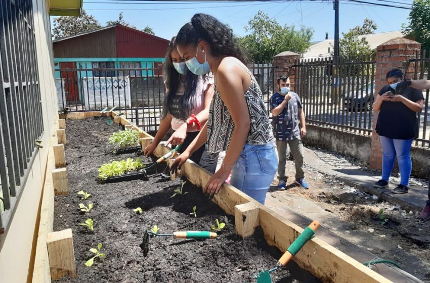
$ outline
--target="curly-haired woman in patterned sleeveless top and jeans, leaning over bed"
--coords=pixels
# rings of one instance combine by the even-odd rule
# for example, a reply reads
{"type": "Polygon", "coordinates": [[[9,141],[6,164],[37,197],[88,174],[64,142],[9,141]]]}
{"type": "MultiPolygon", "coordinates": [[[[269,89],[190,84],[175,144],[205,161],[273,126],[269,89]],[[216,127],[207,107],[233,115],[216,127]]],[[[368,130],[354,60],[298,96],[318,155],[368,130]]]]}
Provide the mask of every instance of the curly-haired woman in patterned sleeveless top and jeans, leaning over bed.
{"type": "Polygon", "coordinates": [[[212,71],[216,86],[208,122],[171,170],[207,141],[209,153],[226,151],[226,157],[204,192],[218,193],[232,171],[231,184],[264,204],[278,165],[275,138],[261,89],[243,63],[232,30],[212,16],[196,14],[176,40],[188,69],[199,75],[212,71]]]}

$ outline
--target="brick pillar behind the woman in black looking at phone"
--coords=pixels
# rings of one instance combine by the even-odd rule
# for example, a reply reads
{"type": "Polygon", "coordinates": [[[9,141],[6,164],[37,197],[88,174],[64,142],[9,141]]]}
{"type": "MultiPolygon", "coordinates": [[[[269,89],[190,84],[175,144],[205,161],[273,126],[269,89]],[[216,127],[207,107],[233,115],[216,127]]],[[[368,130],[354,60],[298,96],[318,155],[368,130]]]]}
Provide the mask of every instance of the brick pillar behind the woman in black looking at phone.
{"type": "MultiPolygon", "coordinates": [[[[377,47],[375,68],[375,89],[378,92],[387,84],[385,75],[394,68],[399,68],[405,74],[406,79],[411,79],[415,70],[415,63],[409,63],[409,59],[419,56],[421,44],[403,37],[393,38],[377,47]]],[[[377,94],[377,93],[375,93],[377,94]]],[[[372,131],[372,148],[370,155],[370,168],[382,169],[382,149],[379,136],[375,132],[378,112],[374,114],[372,131]]]]}

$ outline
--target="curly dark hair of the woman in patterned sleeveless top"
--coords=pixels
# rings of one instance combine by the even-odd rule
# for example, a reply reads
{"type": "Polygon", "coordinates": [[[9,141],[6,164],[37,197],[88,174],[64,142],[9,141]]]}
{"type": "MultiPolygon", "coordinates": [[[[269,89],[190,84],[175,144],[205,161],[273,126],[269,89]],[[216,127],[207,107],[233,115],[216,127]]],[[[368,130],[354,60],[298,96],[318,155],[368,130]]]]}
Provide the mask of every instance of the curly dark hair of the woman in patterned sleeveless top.
{"type": "Polygon", "coordinates": [[[233,36],[233,30],[221,23],[216,18],[206,14],[195,14],[191,22],[186,23],[176,36],[176,44],[189,45],[197,43],[200,40],[206,41],[210,45],[212,56],[232,56],[236,57],[246,65],[236,40],[233,36]]]}

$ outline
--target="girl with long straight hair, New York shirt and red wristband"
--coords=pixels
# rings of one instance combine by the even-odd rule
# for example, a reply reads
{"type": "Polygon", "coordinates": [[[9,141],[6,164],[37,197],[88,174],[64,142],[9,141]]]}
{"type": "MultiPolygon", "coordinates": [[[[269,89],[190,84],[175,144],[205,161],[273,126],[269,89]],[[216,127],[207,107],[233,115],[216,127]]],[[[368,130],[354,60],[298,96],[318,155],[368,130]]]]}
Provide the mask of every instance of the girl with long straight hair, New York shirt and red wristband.
{"type": "MultiPolygon", "coordinates": [[[[188,71],[184,59],[176,50],[175,37],[169,43],[163,70],[166,96],[164,98],[161,122],[154,141],[144,149],[144,155],[151,155],[167,132],[173,129],[167,144],[173,147],[182,144],[184,152],[207,121],[209,104],[213,97],[213,77],[194,75],[188,71]]],[[[200,146],[190,159],[209,172],[215,172],[218,156],[210,157],[205,145],[200,146]]]]}

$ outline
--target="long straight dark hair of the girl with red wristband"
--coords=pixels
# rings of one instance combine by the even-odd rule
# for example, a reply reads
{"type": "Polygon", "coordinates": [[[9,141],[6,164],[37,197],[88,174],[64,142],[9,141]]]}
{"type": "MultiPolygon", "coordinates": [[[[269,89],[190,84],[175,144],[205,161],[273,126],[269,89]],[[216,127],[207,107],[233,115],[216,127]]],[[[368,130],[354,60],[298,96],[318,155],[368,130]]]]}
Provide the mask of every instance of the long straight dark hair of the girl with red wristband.
{"type": "MultiPolygon", "coordinates": [[[[172,102],[175,99],[176,93],[179,88],[179,83],[181,80],[181,74],[176,71],[171,61],[170,53],[176,49],[176,36],[171,38],[169,42],[167,52],[164,58],[164,68],[163,68],[163,79],[166,84],[168,91],[164,97],[163,112],[161,114],[161,119],[164,119],[168,113],[172,113],[172,102]]],[[[187,71],[184,95],[180,96],[179,105],[183,117],[176,117],[179,119],[187,119],[196,103],[196,88],[197,82],[199,81],[199,76],[194,75],[192,72],[187,71]]]]}

